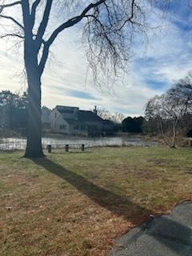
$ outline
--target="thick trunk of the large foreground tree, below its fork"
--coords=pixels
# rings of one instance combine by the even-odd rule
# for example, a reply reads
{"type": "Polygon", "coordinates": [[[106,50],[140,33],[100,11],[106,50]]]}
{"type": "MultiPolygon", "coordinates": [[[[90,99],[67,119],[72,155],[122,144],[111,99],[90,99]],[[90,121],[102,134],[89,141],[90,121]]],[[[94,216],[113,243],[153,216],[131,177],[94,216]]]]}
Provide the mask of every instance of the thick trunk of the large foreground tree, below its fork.
{"type": "Polygon", "coordinates": [[[41,158],[42,152],[42,118],[41,118],[41,78],[34,67],[26,69],[28,80],[28,130],[26,158],[41,158]]]}

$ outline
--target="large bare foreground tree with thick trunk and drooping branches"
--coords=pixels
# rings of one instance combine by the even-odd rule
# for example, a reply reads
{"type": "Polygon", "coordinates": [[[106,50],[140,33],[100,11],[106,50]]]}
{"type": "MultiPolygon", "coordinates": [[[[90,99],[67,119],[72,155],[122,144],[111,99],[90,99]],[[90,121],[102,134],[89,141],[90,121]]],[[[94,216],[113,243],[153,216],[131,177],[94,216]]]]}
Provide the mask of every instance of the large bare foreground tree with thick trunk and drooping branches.
{"type": "Polygon", "coordinates": [[[41,78],[58,34],[82,22],[86,55],[94,71],[118,74],[130,58],[137,33],[146,33],[146,7],[140,0],[6,0],[0,2],[0,18],[13,23],[0,38],[17,38],[24,46],[29,91],[29,122],[26,157],[41,157],[41,78]],[[62,5],[63,22],[52,32],[51,12],[62,5]],[[14,9],[18,15],[14,15],[14,9]],[[40,15],[37,15],[40,14],[40,15]],[[71,15],[71,16],[70,16],[71,15]],[[38,17],[40,16],[40,17],[38,17]]]}

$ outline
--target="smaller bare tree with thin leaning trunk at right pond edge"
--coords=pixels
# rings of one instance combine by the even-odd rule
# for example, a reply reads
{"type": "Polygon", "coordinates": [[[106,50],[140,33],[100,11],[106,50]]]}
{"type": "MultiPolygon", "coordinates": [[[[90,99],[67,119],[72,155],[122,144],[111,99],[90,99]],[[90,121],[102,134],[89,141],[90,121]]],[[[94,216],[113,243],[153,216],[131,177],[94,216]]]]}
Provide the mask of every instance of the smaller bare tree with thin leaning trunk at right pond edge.
{"type": "Polygon", "coordinates": [[[164,142],[171,148],[175,148],[178,130],[182,128],[183,118],[191,107],[188,97],[178,97],[181,92],[176,88],[174,86],[166,94],[154,96],[146,105],[146,119],[156,122],[164,142]]]}

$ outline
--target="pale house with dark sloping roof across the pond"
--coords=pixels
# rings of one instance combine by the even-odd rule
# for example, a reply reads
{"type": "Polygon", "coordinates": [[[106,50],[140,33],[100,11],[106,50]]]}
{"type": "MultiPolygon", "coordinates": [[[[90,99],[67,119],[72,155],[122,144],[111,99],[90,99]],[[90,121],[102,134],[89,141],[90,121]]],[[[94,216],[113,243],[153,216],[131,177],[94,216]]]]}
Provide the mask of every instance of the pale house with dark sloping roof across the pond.
{"type": "Polygon", "coordinates": [[[94,111],[79,110],[78,107],[56,106],[50,114],[51,130],[54,133],[96,136],[112,132],[114,125],[98,117],[94,111]]]}

